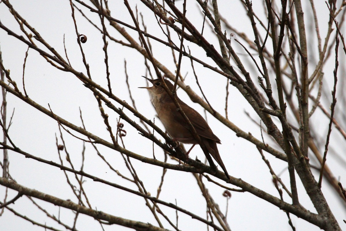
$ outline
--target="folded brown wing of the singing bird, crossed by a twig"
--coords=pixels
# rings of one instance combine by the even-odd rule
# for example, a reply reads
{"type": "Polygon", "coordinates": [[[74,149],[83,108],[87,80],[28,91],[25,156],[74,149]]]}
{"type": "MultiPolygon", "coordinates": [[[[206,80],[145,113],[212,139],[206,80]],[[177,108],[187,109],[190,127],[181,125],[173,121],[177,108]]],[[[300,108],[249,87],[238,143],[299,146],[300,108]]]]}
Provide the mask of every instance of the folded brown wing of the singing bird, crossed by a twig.
{"type": "MultiPolygon", "coordinates": [[[[173,103],[173,102],[172,102],[173,103]]],[[[195,128],[198,135],[205,137],[210,140],[215,140],[217,143],[220,143],[220,139],[211,131],[208,123],[196,110],[191,108],[189,105],[185,104],[183,101],[179,100],[180,106],[183,108],[185,115],[189,118],[191,124],[195,128]]],[[[189,125],[186,123],[185,119],[180,113],[173,113],[174,120],[179,122],[184,127],[189,128],[189,125]]]]}

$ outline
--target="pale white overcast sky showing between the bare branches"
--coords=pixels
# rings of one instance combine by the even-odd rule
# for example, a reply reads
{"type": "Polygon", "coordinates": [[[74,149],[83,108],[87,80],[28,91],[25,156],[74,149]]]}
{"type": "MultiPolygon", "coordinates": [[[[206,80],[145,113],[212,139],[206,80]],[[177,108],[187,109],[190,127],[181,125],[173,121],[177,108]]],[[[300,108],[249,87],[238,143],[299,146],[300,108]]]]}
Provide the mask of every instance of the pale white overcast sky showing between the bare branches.
{"type": "MultiPolygon", "coordinates": [[[[129,1],[133,9],[137,4],[138,11],[143,12],[145,22],[148,26],[148,33],[160,36],[161,31],[158,30],[156,20],[152,13],[145,9],[144,5],[140,1],[129,1]]],[[[76,34],[74,30],[73,20],[71,17],[71,8],[69,1],[56,1],[56,0],[37,0],[37,1],[11,1],[13,7],[18,13],[27,19],[28,23],[33,26],[42,37],[51,44],[60,54],[64,55],[63,36],[65,35],[65,43],[67,54],[74,69],[86,73],[85,67],[82,63],[82,58],[78,44],[76,42],[76,34]]],[[[86,1],[86,3],[88,3],[86,1]]],[[[187,16],[195,25],[202,25],[202,16],[199,11],[196,10],[196,2],[188,1],[187,16]]],[[[182,1],[176,1],[176,4],[182,4],[182,1]]],[[[262,3],[261,1],[253,1],[254,9],[262,17],[262,3]],[[256,5],[257,4],[257,5],[256,5]]],[[[316,1],[317,15],[321,18],[320,32],[321,37],[324,38],[326,33],[326,26],[328,23],[328,9],[324,1],[316,1]]],[[[120,0],[109,1],[111,9],[111,15],[114,18],[125,21],[130,25],[133,25],[130,15],[123,3],[120,0]]],[[[80,6],[81,7],[81,6],[80,6]]],[[[83,7],[81,7],[83,9],[83,7]]],[[[227,17],[229,23],[239,30],[242,30],[249,35],[251,33],[251,24],[245,18],[245,10],[239,4],[239,1],[219,1],[219,10],[224,17],[227,17]]],[[[88,14],[92,20],[97,21],[98,15],[93,14],[86,10],[83,11],[88,14]]],[[[91,75],[95,82],[98,82],[103,87],[107,87],[105,65],[104,65],[104,53],[102,51],[103,42],[102,35],[92,25],[86,21],[81,14],[75,10],[77,25],[80,34],[85,34],[88,37],[88,41],[83,44],[83,50],[86,55],[86,60],[90,65],[91,75]]],[[[307,27],[313,27],[311,12],[306,11],[307,27]]],[[[265,16],[262,17],[265,19],[265,16]]],[[[0,20],[1,22],[12,29],[16,33],[20,33],[20,29],[15,19],[9,13],[7,7],[0,3],[0,20]]],[[[266,21],[265,21],[266,24],[266,21]]],[[[106,23],[108,25],[108,23],[106,23]]],[[[121,35],[114,29],[109,28],[109,33],[117,38],[125,41],[121,35]]],[[[205,28],[206,37],[207,32],[210,31],[208,27],[205,28]]],[[[127,31],[138,40],[137,32],[127,29],[127,31]]],[[[333,36],[335,34],[333,33],[333,36]]],[[[237,37],[235,37],[237,38],[237,37]]],[[[253,38],[251,38],[253,39],[253,38]]],[[[333,40],[332,38],[331,40],[333,40]]],[[[217,47],[217,40],[212,38],[213,44],[217,47]]],[[[234,42],[234,41],[233,41],[234,42]]],[[[152,42],[154,56],[162,62],[173,73],[175,65],[173,63],[171,50],[164,45],[159,45],[156,42],[152,42]]],[[[235,42],[233,43],[235,44],[235,42]]],[[[311,45],[314,44],[311,41],[311,45]]],[[[316,44],[316,43],[315,43],[316,44]]],[[[189,45],[192,54],[199,59],[210,62],[210,59],[206,57],[205,53],[197,46],[189,45]]],[[[40,46],[41,47],[41,46],[40,46]]],[[[0,48],[2,52],[2,59],[6,69],[10,69],[10,75],[13,80],[17,82],[22,89],[22,65],[24,62],[25,51],[27,46],[7,35],[3,30],[0,30],[0,48]]],[[[242,59],[246,59],[244,50],[235,45],[237,53],[242,59]]],[[[145,75],[144,59],[141,55],[138,55],[136,51],[131,48],[121,46],[112,41],[109,41],[108,46],[109,55],[109,67],[110,78],[112,83],[113,93],[130,103],[128,89],[125,83],[124,74],[124,59],[127,61],[127,72],[129,75],[129,81],[131,84],[131,91],[136,100],[138,111],[149,119],[153,119],[155,116],[155,110],[150,104],[148,93],[145,89],[139,89],[138,87],[146,86],[145,80],[140,77],[145,75]]],[[[345,54],[339,53],[340,56],[345,54]]],[[[331,58],[334,60],[334,58],[331,58]]],[[[245,61],[244,61],[245,62],[245,61]]],[[[250,62],[250,60],[249,60],[250,62]]],[[[246,63],[246,62],[245,62],[246,63]]],[[[201,65],[194,63],[201,86],[204,94],[206,94],[211,105],[224,115],[224,99],[226,96],[225,88],[219,88],[217,86],[226,86],[226,79],[208,69],[203,68],[201,65]]],[[[250,64],[252,65],[252,63],[250,64]]],[[[342,65],[342,62],[340,62],[342,65]]],[[[183,58],[182,75],[188,73],[185,84],[191,85],[191,87],[200,94],[200,91],[196,88],[196,83],[192,69],[190,67],[190,60],[186,57],[183,58]]],[[[330,69],[325,69],[325,79],[329,86],[333,79],[334,65],[330,64],[330,69]]],[[[340,67],[341,68],[341,67],[340,67]]],[[[79,108],[82,110],[82,115],[86,128],[100,136],[101,138],[111,141],[106,131],[106,126],[100,116],[98,110],[97,101],[90,90],[85,88],[81,81],[79,81],[71,73],[62,72],[53,68],[47,63],[38,53],[34,50],[29,50],[29,55],[25,69],[25,86],[29,97],[35,100],[37,103],[48,108],[48,104],[51,106],[54,113],[62,118],[70,121],[71,123],[82,126],[79,117],[79,108]]],[[[245,111],[248,112],[257,122],[258,117],[254,113],[253,109],[249,107],[247,102],[239,94],[239,92],[232,86],[230,86],[230,95],[228,102],[228,116],[230,121],[242,128],[245,132],[251,132],[257,139],[261,140],[260,128],[255,125],[251,119],[245,115],[245,111]]],[[[191,102],[189,97],[181,90],[178,90],[179,97],[188,105],[198,110],[201,115],[204,116],[204,112],[201,106],[191,102]]],[[[55,134],[58,136],[59,143],[61,142],[60,134],[58,131],[58,125],[52,118],[39,113],[34,108],[19,100],[18,98],[8,94],[8,115],[12,113],[15,108],[15,114],[13,116],[13,124],[10,127],[10,137],[13,142],[23,151],[26,151],[35,156],[52,160],[54,162],[60,162],[55,145],[55,134]]],[[[326,105],[330,105],[330,98],[321,99],[322,102],[328,102],[326,105]]],[[[340,105],[339,105],[340,106],[340,105]]],[[[120,106],[119,106],[120,107],[120,106]]],[[[119,117],[116,113],[107,110],[109,114],[109,120],[113,129],[116,128],[116,119],[119,117]]],[[[327,107],[328,108],[328,107],[327,107]]],[[[128,116],[133,116],[125,110],[128,116]]],[[[313,116],[320,116],[320,112],[317,110],[313,116]]],[[[312,117],[313,118],[313,117],[312,117]]],[[[316,133],[326,134],[328,120],[325,117],[321,117],[320,120],[312,123],[312,130],[316,133]]],[[[138,119],[133,116],[133,119],[138,122],[138,119]]],[[[248,183],[260,188],[274,196],[279,197],[274,185],[272,184],[272,177],[265,163],[263,162],[260,154],[258,153],[254,144],[250,144],[242,138],[236,136],[234,132],[225,128],[215,118],[207,115],[208,123],[213,132],[220,138],[222,145],[218,145],[225,166],[229,175],[242,178],[248,183]]],[[[162,124],[155,119],[156,123],[163,128],[162,124]]],[[[146,157],[152,157],[152,142],[148,141],[144,137],[138,134],[133,127],[125,123],[124,129],[127,131],[127,136],[124,137],[125,146],[127,149],[142,154],[146,157]]],[[[69,151],[74,166],[78,169],[81,164],[81,151],[83,148],[82,141],[72,138],[66,132],[63,132],[64,140],[66,142],[67,151],[69,151]]],[[[75,135],[81,136],[74,132],[75,135]]],[[[157,134],[157,133],[156,133],[157,134]]],[[[345,163],[337,159],[332,153],[338,152],[340,155],[345,156],[343,147],[338,146],[340,137],[338,134],[333,136],[334,139],[330,143],[330,153],[328,156],[327,164],[332,169],[336,177],[341,177],[341,181],[346,186],[346,181],[343,176],[346,176],[345,163]]],[[[160,137],[161,138],[161,137],[160,137]]],[[[268,136],[264,137],[265,142],[272,144],[268,136]]],[[[321,141],[321,147],[324,146],[325,140],[321,141]]],[[[188,146],[189,147],[189,146],[188,146]]],[[[276,146],[274,146],[276,147],[276,146]]],[[[121,155],[107,148],[100,148],[101,153],[112,163],[113,167],[118,169],[122,174],[129,176],[129,172],[124,165],[121,155]]],[[[324,149],[323,149],[324,150],[324,149]]],[[[164,156],[162,151],[156,146],[155,156],[159,160],[163,160],[164,156]]],[[[190,153],[191,158],[198,157],[204,161],[204,155],[199,147],[195,147],[190,153]]],[[[268,160],[271,161],[271,165],[279,174],[284,170],[286,163],[273,158],[270,154],[265,153],[268,160]]],[[[2,156],[0,156],[2,159],[2,156]]],[[[63,154],[63,158],[65,154],[63,154]]],[[[63,172],[60,169],[52,166],[47,166],[37,161],[27,159],[24,156],[10,152],[10,174],[17,180],[19,184],[22,184],[29,188],[35,188],[44,193],[62,198],[72,199],[76,202],[76,199],[66,183],[66,179],[63,172]]],[[[174,163],[172,160],[170,162],[174,163]]],[[[312,158],[312,163],[316,161],[312,158]]],[[[138,175],[143,180],[146,189],[152,192],[152,195],[156,195],[156,190],[160,184],[162,169],[159,167],[144,164],[140,161],[132,160],[134,167],[137,170],[138,175]]],[[[129,184],[122,178],[113,173],[108,166],[106,166],[95,153],[95,150],[90,144],[86,144],[85,151],[85,167],[84,171],[95,175],[97,177],[109,180],[111,182],[125,185],[129,188],[137,188],[133,184],[129,184]]],[[[317,176],[317,172],[314,172],[317,176]]],[[[74,177],[70,175],[71,179],[74,177]]],[[[285,181],[286,186],[289,186],[288,171],[284,171],[281,175],[285,181]]],[[[149,222],[157,225],[152,213],[149,212],[145,206],[143,198],[134,196],[130,193],[122,192],[119,189],[114,189],[109,186],[102,185],[101,183],[94,183],[90,179],[85,179],[84,188],[88,193],[93,208],[95,206],[98,210],[110,213],[115,216],[120,216],[126,219],[138,220],[143,222],[149,222]],[[129,209],[131,207],[132,209],[129,209]]],[[[226,209],[226,198],[222,196],[224,191],[222,188],[215,187],[204,180],[204,183],[209,189],[209,192],[218,202],[223,211],[226,209]]],[[[306,195],[301,183],[298,182],[300,202],[312,212],[316,212],[313,208],[310,199],[306,195]]],[[[230,187],[232,187],[230,185],[230,187]]],[[[323,181],[322,184],[323,193],[327,198],[329,206],[336,216],[339,225],[342,229],[346,230],[346,224],[343,219],[346,219],[345,205],[340,201],[338,195],[328,188],[327,181],[323,181]]],[[[161,199],[175,203],[177,205],[187,208],[202,217],[206,217],[205,209],[206,205],[200,190],[191,174],[185,172],[177,172],[168,170],[164,185],[162,188],[161,199]],[[191,184],[191,182],[193,182],[191,184]],[[202,203],[201,203],[202,202],[202,203]]],[[[0,200],[3,201],[5,194],[5,188],[0,187],[0,200]]],[[[13,198],[16,192],[9,190],[9,199],[13,198]]],[[[284,194],[287,202],[290,200],[284,194]]],[[[58,206],[49,205],[45,202],[36,200],[38,204],[42,205],[47,211],[51,212],[55,216],[58,216],[58,206]]],[[[33,220],[40,223],[46,223],[47,225],[53,225],[58,229],[65,230],[62,226],[55,225],[55,222],[49,219],[44,213],[39,211],[26,197],[21,197],[15,204],[11,204],[10,207],[23,215],[27,215],[33,220]]],[[[162,210],[173,221],[175,221],[175,211],[171,208],[160,206],[162,210]]],[[[70,226],[73,225],[74,214],[61,208],[60,219],[70,226]]],[[[292,222],[297,230],[320,230],[317,226],[309,224],[308,222],[298,219],[291,214],[292,222]]],[[[163,221],[164,219],[162,219],[163,221]]],[[[236,193],[232,192],[232,197],[229,200],[228,207],[228,222],[230,228],[233,231],[238,230],[292,230],[288,224],[288,219],[283,211],[279,208],[269,204],[268,202],[257,198],[250,193],[236,193]],[[278,228],[279,227],[279,228],[278,228]]],[[[164,224],[166,224],[164,222],[164,224]]],[[[165,225],[166,228],[173,230],[171,226],[165,225]]],[[[179,213],[179,228],[181,230],[206,230],[206,225],[197,222],[191,217],[179,213]]],[[[78,224],[78,230],[102,230],[100,225],[92,218],[85,215],[80,215],[78,224]]],[[[111,225],[104,225],[105,230],[130,230],[128,228],[111,225]]],[[[1,231],[15,231],[15,230],[43,230],[38,226],[32,225],[30,222],[20,219],[13,215],[10,211],[5,210],[5,213],[0,217],[0,230],[1,231]]]]}

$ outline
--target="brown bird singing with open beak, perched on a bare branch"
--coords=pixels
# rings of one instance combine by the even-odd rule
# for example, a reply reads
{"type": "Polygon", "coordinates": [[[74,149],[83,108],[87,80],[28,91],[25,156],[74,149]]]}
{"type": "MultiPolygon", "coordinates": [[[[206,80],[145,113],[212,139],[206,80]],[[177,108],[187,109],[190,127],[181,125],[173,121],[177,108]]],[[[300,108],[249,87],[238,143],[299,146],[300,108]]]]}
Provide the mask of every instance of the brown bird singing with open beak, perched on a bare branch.
{"type": "MultiPolygon", "coordinates": [[[[144,76],[143,76],[144,77],[144,76]]],[[[144,77],[146,78],[146,77],[144,77]]],[[[149,80],[153,86],[152,87],[140,87],[146,88],[149,91],[150,99],[154,104],[155,110],[158,117],[160,118],[163,126],[165,127],[167,133],[172,137],[173,141],[179,141],[181,143],[193,144],[190,150],[186,153],[188,154],[194,145],[198,144],[197,140],[194,138],[192,132],[190,131],[188,123],[186,123],[183,116],[177,111],[177,108],[162,86],[160,79],[149,80]]],[[[173,84],[169,80],[164,80],[170,91],[173,90],[173,84]]],[[[191,124],[196,130],[197,134],[200,136],[206,149],[211,154],[211,156],[218,162],[222,170],[224,170],[227,178],[229,179],[224,162],[222,162],[219,150],[216,144],[220,144],[220,139],[211,131],[208,123],[204,118],[193,108],[185,104],[181,99],[176,96],[176,100],[183,109],[185,115],[189,118],[191,124]]]]}

